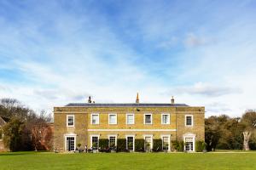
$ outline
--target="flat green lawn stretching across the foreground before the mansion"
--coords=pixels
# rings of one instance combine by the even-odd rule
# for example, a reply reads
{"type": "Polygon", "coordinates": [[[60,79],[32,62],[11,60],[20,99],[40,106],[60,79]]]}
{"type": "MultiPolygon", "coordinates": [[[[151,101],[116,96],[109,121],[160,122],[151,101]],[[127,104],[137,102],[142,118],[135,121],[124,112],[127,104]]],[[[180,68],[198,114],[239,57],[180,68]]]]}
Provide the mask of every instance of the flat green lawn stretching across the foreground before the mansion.
{"type": "Polygon", "coordinates": [[[0,153],[0,169],[256,169],[256,152],[247,153],[0,153]]]}

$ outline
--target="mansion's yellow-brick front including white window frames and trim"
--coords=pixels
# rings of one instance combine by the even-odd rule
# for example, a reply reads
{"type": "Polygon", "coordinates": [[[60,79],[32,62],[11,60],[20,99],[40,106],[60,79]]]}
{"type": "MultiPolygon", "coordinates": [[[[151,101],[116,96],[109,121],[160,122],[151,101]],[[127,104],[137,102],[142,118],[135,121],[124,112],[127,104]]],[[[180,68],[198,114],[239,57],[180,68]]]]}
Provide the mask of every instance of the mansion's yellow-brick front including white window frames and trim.
{"type": "MultiPolygon", "coordinates": [[[[92,137],[95,139],[162,139],[193,140],[189,151],[195,151],[195,141],[205,139],[204,127],[205,108],[188,105],[96,105],[78,104],[54,108],[54,147],[55,150],[73,150],[77,144],[84,148],[92,146],[92,137]],[[92,124],[92,114],[98,114],[99,124],[92,124]],[[116,114],[117,123],[109,124],[109,114],[116,114]],[[127,124],[126,114],[133,114],[134,124],[127,124]],[[145,115],[151,115],[151,123],[145,124],[145,115]],[[163,114],[167,115],[168,123],[163,124],[163,114]],[[169,116],[168,116],[169,115],[169,116]],[[68,116],[73,117],[73,126],[67,125],[68,116]],[[186,126],[187,116],[191,125],[186,126]],[[69,140],[71,137],[72,140],[69,140]],[[187,138],[188,137],[188,138],[187,138]],[[74,146],[70,149],[70,141],[74,146]],[[68,146],[67,146],[68,145],[68,146]]],[[[152,147],[152,144],[151,144],[152,147]]],[[[185,147],[185,146],[184,146],[185,147]]],[[[134,148],[134,146],[133,146],[134,148]]],[[[168,150],[170,150],[169,147],[168,150]]],[[[189,148],[189,147],[188,147],[189,148]]]]}

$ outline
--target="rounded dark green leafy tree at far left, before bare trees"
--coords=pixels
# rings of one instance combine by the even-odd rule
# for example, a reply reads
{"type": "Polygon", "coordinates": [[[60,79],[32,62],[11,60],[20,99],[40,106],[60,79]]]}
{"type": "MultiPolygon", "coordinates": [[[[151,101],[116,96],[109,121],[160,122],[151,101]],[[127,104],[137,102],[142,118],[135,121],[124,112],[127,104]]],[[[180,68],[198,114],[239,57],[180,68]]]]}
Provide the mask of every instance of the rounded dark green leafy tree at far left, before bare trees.
{"type": "Polygon", "coordinates": [[[21,134],[24,124],[18,118],[12,118],[3,126],[3,143],[9,150],[20,150],[21,134]]]}

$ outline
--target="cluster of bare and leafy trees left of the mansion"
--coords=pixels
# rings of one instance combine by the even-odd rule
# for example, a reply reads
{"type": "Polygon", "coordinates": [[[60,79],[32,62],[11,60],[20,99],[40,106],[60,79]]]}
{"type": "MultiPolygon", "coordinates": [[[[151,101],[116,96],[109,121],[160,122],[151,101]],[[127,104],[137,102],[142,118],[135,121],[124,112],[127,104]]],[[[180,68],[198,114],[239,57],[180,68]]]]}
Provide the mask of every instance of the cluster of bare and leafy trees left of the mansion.
{"type": "MultiPolygon", "coordinates": [[[[16,99],[0,99],[0,116],[7,123],[0,130],[3,144],[11,151],[50,150],[52,133],[51,116],[21,105],[16,99]]],[[[1,128],[1,127],[0,127],[1,128]]]]}

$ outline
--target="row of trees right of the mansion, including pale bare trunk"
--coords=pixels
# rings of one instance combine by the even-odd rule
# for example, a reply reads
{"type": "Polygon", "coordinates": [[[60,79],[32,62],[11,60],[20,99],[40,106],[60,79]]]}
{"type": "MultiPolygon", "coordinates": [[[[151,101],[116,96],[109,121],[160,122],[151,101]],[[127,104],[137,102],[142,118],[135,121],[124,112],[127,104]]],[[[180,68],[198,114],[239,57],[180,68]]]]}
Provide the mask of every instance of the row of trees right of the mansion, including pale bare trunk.
{"type": "Polygon", "coordinates": [[[207,150],[256,150],[256,111],[241,117],[210,116],[205,119],[207,150]]]}

